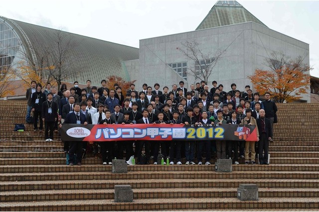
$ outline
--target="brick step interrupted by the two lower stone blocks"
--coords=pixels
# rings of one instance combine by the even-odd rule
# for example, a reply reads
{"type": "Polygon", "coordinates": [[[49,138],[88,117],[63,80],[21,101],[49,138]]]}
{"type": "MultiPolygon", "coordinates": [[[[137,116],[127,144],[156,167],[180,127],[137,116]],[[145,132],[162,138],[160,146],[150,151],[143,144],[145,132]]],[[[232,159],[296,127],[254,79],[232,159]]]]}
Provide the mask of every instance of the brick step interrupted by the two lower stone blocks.
{"type": "MultiPolygon", "coordinates": [[[[182,188],[182,189],[134,189],[133,199],[175,198],[237,198],[236,188],[182,188]]],[[[0,202],[63,201],[72,196],[74,200],[113,200],[114,189],[43,190],[1,192],[0,202]]],[[[318,198],[319,189],[260,188],[259,198],[318,198]]]]}

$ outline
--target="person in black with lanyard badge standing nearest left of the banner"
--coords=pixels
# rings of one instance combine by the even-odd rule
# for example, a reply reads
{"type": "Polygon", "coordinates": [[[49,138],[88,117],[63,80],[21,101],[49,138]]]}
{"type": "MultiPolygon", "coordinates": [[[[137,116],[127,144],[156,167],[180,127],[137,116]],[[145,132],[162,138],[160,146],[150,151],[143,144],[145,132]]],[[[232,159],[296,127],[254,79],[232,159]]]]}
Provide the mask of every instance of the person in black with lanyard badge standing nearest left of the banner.
{"type": "Polygon", "coordinates": [[[53,140],[54,122],[58,118],[58,106],[53,101],[51,92],[47,95],[48,100],[42,104],[42,120],[44,121],[44,139],[46,141],[53,140]],[[50,129],[50,136],[49,136],[50,129]]]}

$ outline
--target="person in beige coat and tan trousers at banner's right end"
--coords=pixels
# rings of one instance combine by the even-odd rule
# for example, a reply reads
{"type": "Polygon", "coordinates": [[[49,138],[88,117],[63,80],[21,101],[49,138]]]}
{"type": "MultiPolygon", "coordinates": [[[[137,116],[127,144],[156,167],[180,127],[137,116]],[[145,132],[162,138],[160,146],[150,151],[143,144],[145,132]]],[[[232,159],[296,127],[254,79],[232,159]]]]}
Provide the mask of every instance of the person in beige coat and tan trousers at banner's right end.
{"type": "MultiPolygon", "coordinates": [[[[246,117],[244,119],[241,120],[242,124],[250,124],[250,125],[255,125],[257,127],[257,121],[254,117],[251,116],[251,112],[252,110],[250,108],[246,109],[246,117]]],[[[257,141],[259,141],[259,132],[257,129],[257,141]]],[[[249,147],[251,150],[251,164],[252,165],[256,165],[255,162],[255,156],[256,156],[256,152],[255,152],[255,141],[246,141],[245,143],[245,164],[248,165],[249,164],[249,147]]]]}

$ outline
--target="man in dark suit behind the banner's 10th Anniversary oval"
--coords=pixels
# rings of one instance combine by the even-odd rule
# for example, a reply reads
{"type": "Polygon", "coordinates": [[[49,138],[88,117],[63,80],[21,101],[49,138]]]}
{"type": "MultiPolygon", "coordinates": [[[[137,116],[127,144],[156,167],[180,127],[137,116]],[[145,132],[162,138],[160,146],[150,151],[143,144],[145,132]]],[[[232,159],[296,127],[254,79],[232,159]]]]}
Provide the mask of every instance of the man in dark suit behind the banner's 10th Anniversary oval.
{"type": "MultiPolygon", "coordinates": [[[[68,123],[73,123],[73,124],[83,124],[86,126],[88,124],[86,117],[83,113],[80,112],[80,104],[75,103],[74,104],[74,111],[70,112],[67,114],[64,123],[63,124],[68,124],[68,123]]],[[[62,124],[60,124],[60,127],[62,124]]],[[[73,166],[74,165],[74,157],[73,155],[76,154],[76,160],[78,166],[81,166],[82,162],[82,147],[83,144],[82,142],[79,141],[70,141],[70,150],[69,150],[69,165],[73,166]]]]}

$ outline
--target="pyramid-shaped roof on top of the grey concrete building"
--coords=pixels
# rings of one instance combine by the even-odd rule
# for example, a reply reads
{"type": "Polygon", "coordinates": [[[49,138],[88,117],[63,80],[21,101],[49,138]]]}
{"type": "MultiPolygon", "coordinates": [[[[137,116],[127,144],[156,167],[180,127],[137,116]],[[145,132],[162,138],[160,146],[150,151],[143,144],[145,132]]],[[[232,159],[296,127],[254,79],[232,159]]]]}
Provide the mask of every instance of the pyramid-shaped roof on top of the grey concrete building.
{"type": "Polygon", "coordinates": [[[197,26],[196,30],[250,21],[267,27],[237,1],[219,0],[211,8],[204,20],[197,26]]]}

